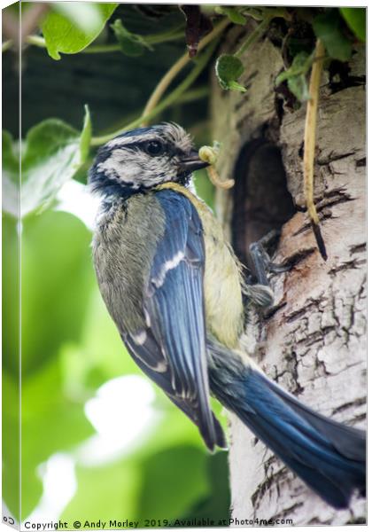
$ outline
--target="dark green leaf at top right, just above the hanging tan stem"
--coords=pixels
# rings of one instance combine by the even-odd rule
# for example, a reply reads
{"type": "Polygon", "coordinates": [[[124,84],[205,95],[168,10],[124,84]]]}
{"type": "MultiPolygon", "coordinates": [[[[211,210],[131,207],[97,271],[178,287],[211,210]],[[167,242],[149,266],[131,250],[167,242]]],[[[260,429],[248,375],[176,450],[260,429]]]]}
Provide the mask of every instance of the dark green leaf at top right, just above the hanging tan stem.
{"type": "Polygon", "coordinates": [[[337,10],[318,15],[314,19],[313,27],[315,35],[322,40],[330,58],[339,61],[351,59],[352,43],[342,30],[341,18],[337,10]]]}

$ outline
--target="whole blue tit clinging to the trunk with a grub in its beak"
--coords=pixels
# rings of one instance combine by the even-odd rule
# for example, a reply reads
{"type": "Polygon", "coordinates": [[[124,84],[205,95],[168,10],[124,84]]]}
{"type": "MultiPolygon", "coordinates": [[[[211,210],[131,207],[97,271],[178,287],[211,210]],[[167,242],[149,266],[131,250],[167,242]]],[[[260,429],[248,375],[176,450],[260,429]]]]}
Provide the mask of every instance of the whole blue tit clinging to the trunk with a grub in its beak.
{"type": "Polygon", "coordinates": [[[197,426],[226,446],[210,395],[335,508],[365,491],[365,433],[327,419],[267,379],[239,350],[246,286],[212,211],[193,191],[204,168],[174,123],[134,129],[100,148],[89,184],[101,198],[97,281],[130,356],[197,426]]]}

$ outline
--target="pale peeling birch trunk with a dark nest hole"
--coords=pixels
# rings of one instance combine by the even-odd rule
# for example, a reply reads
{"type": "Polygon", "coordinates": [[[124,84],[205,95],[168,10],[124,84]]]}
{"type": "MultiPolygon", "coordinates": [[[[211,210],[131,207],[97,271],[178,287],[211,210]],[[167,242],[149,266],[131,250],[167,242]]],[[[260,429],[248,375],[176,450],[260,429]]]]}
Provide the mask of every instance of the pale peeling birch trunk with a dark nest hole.
{"type": "MultiPolygon", "coordinates": [[[[233,30],[223,51],[236,50],[242,36],[233,30]]],[[[217,82],[213,88],[213,137],[223,143],[219,170],[222,178],[236,179],[233,192],[218,191],[218,215],[242,262],[249,244],[274,227],[282,228],[275,262],[295,262],[290,272],[272,277],[275,306],[265,316],[251,311],[242,342],[263,371],[302,402],[363,427],[364,48],[353,55],[349,72],[344,68],[338,78],[330,80],[329,72],[322,77],[314,182],[327,262],[317,251],[304,209],[306,106],[293,111],[275,93],[283,59],[268,39],[242,59],[246,68],[241,80],[248,91],[223,92],[217,82]]],[[[232,518],[291,519],[297,525],[365,522],[363,499],[355,497],[350,510],[333,510],[234,415],[229,421],[232,518]]]]}

